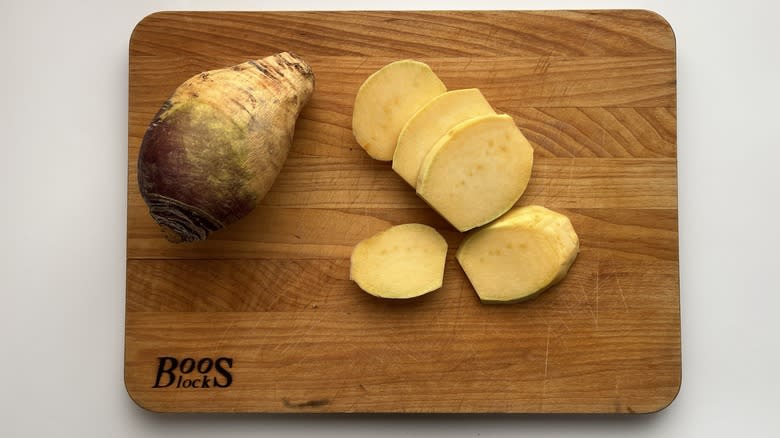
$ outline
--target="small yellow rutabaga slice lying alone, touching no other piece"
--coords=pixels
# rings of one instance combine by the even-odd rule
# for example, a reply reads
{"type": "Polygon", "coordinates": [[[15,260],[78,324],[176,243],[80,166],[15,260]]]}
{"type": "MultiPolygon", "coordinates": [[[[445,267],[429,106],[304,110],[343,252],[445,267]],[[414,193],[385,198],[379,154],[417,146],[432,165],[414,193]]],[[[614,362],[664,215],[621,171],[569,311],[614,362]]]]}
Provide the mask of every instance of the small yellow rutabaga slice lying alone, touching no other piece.
{"type": "Polygon", "coordinates": [[[413,298],[441,287],[447,242],[422,224],[397,225],[358,243],[349,278],[371,295],[413,298]]]}

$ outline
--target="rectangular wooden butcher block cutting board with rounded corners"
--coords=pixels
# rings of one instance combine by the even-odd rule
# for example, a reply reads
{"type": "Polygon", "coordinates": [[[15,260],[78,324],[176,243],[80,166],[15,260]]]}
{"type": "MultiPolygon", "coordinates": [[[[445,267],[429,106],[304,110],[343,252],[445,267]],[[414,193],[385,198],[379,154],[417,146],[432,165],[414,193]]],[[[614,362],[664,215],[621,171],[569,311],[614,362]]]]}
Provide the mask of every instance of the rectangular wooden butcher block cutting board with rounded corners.
{"type": "Polygon", "coordinates": [[[676,63],[660,16],[164,12],[133,31],[129,74],[125,382],[140,406],[634,413],[675,398],[676,63]],[[188,77],[286,50],[317,82],[272,190],[207,241],[168,243],[136,182],[147,125],[188,77]],[[479,87],[534,146],[518,204],[565,213],[581,238],[538,298],[480,304],[454,257],[463,235],[355,142],[358,87],[405,58],[449,89],[479,87]],[[408,222],[446,238],[444,286],[408,301],[362,292],[352,247],[408,222]]]}

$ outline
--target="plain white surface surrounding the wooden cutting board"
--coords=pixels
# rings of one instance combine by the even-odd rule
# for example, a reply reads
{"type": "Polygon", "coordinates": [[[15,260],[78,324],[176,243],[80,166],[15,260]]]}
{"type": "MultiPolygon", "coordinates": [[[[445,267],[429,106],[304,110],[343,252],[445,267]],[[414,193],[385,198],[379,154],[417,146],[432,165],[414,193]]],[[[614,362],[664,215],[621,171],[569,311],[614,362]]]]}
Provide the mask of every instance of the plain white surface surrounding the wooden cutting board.
{"type": "Polygon", "coordinates": [[[780,436],[774,1],[0,0],[0,435],[780,436]],[[158,415],[123,385],[127,65],[165,9],[647,8],[677,35],[683,383],[646,416],[158,415]]]}

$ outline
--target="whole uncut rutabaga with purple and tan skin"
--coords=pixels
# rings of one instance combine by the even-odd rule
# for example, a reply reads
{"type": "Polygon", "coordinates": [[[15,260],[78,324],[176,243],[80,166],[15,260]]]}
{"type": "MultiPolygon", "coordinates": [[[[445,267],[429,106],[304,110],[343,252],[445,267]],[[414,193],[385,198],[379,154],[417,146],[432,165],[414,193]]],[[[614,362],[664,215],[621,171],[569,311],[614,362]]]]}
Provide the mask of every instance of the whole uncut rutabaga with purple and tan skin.
{"type": "Polygon", "coordinates": [[[248,214],[271,188],[314,91],[292,53],[196,75],[146,131],[138,185],[172,242],[205,239],[248,214]]]}

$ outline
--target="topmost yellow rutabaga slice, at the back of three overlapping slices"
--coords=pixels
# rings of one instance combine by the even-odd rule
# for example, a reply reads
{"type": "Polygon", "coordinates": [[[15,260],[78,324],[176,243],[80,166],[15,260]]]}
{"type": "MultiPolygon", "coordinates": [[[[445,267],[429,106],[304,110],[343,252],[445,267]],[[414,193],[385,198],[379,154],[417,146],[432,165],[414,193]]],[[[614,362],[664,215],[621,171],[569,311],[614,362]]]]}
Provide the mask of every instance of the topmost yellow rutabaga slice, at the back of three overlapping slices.
{"type": "Polygon", "coordinates": [[[352,132],[376,160],[393,159],[401,128],[423,105],[447,91],[427,64],[390,63],[363,82],[355,97],[352,132]]]}

